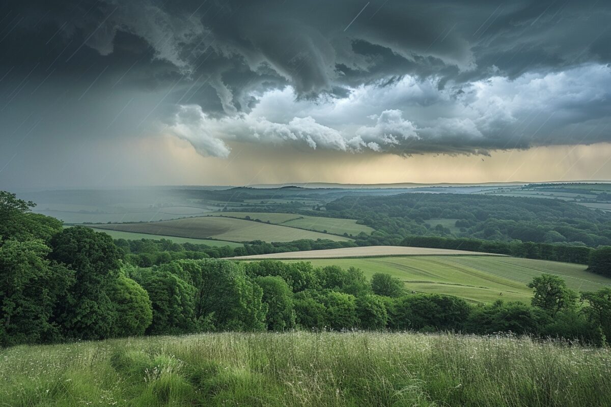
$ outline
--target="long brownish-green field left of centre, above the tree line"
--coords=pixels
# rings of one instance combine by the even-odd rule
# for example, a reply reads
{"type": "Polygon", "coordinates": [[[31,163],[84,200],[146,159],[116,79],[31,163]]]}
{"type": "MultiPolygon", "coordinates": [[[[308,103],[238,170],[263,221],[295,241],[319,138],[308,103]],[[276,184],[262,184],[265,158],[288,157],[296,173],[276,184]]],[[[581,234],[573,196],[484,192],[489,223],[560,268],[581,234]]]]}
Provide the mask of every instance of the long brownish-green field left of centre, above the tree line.
{"type": "Polygon", "coordinates": [[[188,237],[190,239],[218,239],[229,242],[290,242],[298,239],[349,240],[347,237],[334,236],[287,226],[269,225],[229,217],[198,217],[164,222],[119,223],[96,225],[100,229],[123,232],[158,234],[163,236],[188,237]]]}

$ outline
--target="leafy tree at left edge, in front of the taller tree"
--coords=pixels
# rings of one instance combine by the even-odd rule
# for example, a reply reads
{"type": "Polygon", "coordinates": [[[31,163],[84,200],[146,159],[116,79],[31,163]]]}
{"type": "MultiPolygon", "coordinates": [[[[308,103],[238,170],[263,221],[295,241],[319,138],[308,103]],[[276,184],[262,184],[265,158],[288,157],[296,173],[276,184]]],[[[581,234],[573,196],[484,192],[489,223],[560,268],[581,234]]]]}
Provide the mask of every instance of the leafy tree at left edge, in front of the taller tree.
{"type": "Polygon", "coordinates": [[[59,339],[51,316],[73,274],[46,260],[49,251],[42,240],[0,247],[0,346],[59,339]]]}

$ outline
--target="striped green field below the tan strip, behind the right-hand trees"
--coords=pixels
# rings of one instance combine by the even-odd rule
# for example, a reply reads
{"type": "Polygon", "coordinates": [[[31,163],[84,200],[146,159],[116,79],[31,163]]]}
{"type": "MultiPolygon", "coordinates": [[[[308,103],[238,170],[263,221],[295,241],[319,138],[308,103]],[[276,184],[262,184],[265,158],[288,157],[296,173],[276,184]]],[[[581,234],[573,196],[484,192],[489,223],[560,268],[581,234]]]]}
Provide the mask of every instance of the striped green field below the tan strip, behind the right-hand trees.
{"type": "Polygon", "coordinates": [[[532,290],[526,284],[541,273],[562,277],[574,290],[595,291],[611,285],[610,278],[586,272],[585,265],[508,257],[406,256],[307,261],[315,266],[357,267],[368,277],[388,273],[403,280],[408,290],[456,295],[472,302],[499,299],[529,302],[532,290]]]}

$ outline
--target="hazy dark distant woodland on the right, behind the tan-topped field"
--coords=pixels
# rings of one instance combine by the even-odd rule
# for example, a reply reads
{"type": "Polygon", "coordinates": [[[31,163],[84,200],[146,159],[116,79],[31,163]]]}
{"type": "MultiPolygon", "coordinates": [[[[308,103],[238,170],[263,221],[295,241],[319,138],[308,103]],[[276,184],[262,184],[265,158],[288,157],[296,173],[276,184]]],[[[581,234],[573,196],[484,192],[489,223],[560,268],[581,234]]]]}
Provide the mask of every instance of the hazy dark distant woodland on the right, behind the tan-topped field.
{"type": "Polygon", "coordinates": [[[398,244],[406,236],[472,237],[510,242],[611,245],[611,214],[562,200],[450,193],[345,196],[326,204],[324,216],[358,219],[376,229],[359,236],[371,244],[398,244]],[[430,219],[456,219],[458,232],[430,219]]]}

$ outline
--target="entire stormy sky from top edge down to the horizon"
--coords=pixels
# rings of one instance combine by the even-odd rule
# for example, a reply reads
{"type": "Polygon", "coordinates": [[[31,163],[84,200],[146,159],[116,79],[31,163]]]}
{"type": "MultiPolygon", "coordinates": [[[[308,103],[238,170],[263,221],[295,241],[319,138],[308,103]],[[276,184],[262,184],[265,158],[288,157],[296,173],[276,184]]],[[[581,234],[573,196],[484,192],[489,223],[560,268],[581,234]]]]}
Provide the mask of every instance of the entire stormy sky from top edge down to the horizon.
{"type": "Polygon", "coordinates": [[[603,0],[8,0],[0,188],[611,179],[603,0]]]}

